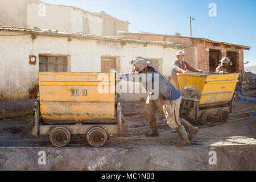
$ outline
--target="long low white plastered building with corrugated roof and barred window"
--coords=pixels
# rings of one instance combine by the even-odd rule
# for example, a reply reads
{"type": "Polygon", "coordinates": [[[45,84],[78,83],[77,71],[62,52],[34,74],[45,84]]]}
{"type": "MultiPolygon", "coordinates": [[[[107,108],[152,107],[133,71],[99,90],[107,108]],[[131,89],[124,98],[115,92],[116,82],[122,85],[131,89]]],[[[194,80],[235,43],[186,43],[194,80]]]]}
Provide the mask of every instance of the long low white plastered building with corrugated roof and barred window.
{"type": "MultiPolygon", "coordinates": [[[[67,32],[0,27],[0,100],[31,98],[37,92],[38,72],[131,72],[136,56],[149,60],[164,76],[182,44],[106,38],[67,32]],[[36,58],[36,63],[34,63],[36,58]],[[33,64],[34,63],[34,64],[33,64]]],[[[134,97],[124,94],[125,100],[134,97]]]]}

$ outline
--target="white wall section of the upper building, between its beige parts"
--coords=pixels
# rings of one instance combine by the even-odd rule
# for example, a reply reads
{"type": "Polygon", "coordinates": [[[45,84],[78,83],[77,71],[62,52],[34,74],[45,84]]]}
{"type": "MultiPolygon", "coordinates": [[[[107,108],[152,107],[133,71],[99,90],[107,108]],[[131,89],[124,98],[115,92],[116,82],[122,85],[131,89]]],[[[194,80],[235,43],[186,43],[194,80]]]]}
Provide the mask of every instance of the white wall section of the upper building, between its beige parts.
{"type": "Polygon", "coordinates": [[[59,32],[82,32],[82,17],[89,19],[92,35],[102,35],[102,19],[99,16],[86,13],[69,6],[46,5],[46,16],[38,16],[38,3],[27,4],[28,28],[58,30],[59,32]]]}

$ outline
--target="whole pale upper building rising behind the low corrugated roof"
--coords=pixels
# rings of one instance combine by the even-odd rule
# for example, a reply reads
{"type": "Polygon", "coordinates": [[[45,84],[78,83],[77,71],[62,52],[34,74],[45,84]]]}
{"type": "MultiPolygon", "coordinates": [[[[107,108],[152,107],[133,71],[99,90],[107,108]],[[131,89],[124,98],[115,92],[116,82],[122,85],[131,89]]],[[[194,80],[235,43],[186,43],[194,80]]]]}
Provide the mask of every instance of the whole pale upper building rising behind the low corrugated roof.
{"type": "Polygon", "coordinates": [[[39,0],[0,1],[0,26],[115,36],[117,31],[129,31],[129,24],[104,11],[92,13],[79,7],[50,5],[39,0]]]}

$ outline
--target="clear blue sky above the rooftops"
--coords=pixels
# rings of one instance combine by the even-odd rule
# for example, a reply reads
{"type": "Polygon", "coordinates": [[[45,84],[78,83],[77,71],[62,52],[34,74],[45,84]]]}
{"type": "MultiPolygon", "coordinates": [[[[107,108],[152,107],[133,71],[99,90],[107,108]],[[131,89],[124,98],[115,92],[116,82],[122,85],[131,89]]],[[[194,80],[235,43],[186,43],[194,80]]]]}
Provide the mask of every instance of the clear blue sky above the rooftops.
{"type": "Polygon", "coordinates": [[[154,32],[190,36],[189,16],[193,16],[192,36],[251,46],[245,50],[246,66],[256,65],[255,0],[42,0],[54,5],[80,7],[128,20],[130,32],[154,32]],[[209,16],[215,3],[217,16],[209,16]]]}

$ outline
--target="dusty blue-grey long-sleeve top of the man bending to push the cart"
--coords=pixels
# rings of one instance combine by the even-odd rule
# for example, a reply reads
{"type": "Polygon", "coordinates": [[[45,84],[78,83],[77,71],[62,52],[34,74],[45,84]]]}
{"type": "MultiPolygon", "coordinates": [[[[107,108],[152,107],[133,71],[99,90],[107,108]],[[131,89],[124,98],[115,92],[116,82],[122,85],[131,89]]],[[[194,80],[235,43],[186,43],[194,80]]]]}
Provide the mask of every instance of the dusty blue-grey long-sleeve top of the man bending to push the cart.
{"type": "MultiPolygon", "coordinates": [[[[160,74],[155,69],[149,69],[145,73],[126,73],[123,74],[123,80],[126,81],[140,81],[144,88],[150,93],[154,94],[156,97],[166,98],[167,100],[174,101],[180,98],[181,94],[174,85],[172,85],[166,77],[160,74]],[[144,74],[144,75],[142,75],[144,74]],[[147,79],[143,78],[147,77],[147,79]],[[143,79],[139,79],[139,78],[143,79]],[[134,79],[135,78],[135,79],[134,79]],[[158,82],[158,83],[157,83],[158,82]]],[[[157,99],[157,98],[152,98],[157,99]]]]}

